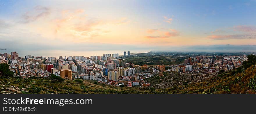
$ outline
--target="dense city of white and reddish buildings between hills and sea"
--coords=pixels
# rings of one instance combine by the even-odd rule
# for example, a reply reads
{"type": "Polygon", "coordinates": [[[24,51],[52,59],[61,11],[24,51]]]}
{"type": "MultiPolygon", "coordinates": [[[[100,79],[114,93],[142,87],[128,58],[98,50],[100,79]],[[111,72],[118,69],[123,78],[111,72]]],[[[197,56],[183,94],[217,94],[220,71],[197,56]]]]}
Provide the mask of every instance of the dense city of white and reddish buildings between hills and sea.
{"type": "MultiPolygon", "coordinates": [[[[142,53],[142,54],[150,54],[142,53]]],[[[124,51],[123,55],[103,54],[102,56],[59,56],[44,57],[26,55],[20,57],[18,52],[0,54],[0,63],[9,64],[14,76],[21,78],[47,78],[51,74],[63,79],[93,80],[113,86],[149,87],[146,79],[163,72],[174,71],[181,74],[218,74],[233,70],[248,60],[246,55],[197,55],[186,56],[182,63],[173,65],[136,65],[126,58],[138,56],[124,51]]],[[[169,56],[169,55],[166,55],[169,56]]],[[[175,63],[175,60],[172,60],[175,63]]]]}

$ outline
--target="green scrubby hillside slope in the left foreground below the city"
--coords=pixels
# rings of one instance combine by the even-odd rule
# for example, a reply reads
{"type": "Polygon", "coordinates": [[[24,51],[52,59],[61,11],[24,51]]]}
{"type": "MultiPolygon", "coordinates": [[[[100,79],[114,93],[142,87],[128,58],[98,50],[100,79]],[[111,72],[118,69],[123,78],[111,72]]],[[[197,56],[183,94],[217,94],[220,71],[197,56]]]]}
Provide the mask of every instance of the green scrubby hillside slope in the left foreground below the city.
{"type": "MultiPolygon", "coordinates": [[[[57,76],[58,77],[58,76],[57,76]]],[[[91,80],[1,78],[0,93],[158,93],[147,88],[117,87],[91,80]]]]}

